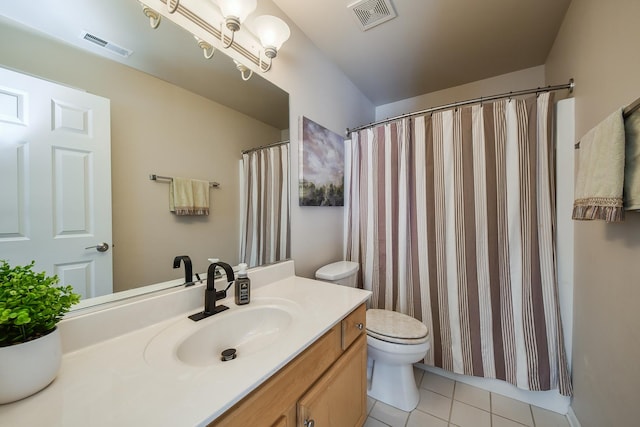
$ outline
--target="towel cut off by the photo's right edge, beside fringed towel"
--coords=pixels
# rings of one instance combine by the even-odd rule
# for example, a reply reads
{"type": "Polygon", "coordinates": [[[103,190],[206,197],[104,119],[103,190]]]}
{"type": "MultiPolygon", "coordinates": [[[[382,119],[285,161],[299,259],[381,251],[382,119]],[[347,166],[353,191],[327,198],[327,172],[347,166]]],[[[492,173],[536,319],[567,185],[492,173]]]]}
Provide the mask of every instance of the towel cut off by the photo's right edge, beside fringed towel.
{"type": "Polygon", "coordinates": [[[640,209],[640,109],[624,119],[624,208],[640,209]]]}

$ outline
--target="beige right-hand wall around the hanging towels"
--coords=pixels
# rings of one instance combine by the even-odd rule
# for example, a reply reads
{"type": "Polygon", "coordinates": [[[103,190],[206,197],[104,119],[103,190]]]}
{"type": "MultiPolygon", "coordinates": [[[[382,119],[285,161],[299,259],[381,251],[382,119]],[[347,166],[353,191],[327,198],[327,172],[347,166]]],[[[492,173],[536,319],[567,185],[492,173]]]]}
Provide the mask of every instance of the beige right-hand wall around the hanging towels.
{"type": "MultiPolygon", "coordinates": [[[[576,137],[640,96],[640,2],[573,0],[546,63],[576,80],[576,137]]],[[[640,422],[640,214],[575,223],[573,410],[582,427],[640,422]]]]}

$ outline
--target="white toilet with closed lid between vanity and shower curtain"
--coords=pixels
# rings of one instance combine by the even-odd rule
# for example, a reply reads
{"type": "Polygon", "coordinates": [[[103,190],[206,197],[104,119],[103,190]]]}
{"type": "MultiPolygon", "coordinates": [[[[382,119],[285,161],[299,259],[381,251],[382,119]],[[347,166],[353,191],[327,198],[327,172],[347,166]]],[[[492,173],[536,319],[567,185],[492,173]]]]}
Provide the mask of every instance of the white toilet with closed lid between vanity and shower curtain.
{"type": "MultiPolygon", "coordinates": [[[[316,271],[316,279],[354,287],[358,263],[338,261],[316,271]]],[[[403,411],[418,406],[413,364],[429,350],[429,330],[420,321],[389,310],[367,310],[367,394],[403,411]]]]}

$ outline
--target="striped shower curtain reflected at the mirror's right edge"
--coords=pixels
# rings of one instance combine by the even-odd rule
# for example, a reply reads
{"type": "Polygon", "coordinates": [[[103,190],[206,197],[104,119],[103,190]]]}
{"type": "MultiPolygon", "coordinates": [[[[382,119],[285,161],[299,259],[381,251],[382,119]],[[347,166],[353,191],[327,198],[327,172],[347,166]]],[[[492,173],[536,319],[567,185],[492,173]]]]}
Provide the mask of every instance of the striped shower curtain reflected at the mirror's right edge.
{"type": "Polygon", "coordinates": [[[289,258],[289,144],[243,154],[240,185],[240,262],[254,267],[289,258]]]}

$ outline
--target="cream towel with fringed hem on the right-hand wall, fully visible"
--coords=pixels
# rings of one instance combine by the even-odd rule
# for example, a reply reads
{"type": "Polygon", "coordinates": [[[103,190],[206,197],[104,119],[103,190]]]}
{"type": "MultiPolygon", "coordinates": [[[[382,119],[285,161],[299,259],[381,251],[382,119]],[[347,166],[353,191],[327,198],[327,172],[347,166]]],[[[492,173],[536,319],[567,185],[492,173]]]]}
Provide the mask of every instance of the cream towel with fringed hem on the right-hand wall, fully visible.
{"type": "Polygon", "coordinates": [[[622,108],[582,137],[573,219],[624,220],[624,143],[622,108]]]}

